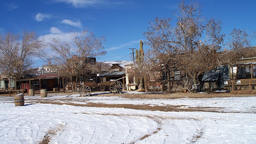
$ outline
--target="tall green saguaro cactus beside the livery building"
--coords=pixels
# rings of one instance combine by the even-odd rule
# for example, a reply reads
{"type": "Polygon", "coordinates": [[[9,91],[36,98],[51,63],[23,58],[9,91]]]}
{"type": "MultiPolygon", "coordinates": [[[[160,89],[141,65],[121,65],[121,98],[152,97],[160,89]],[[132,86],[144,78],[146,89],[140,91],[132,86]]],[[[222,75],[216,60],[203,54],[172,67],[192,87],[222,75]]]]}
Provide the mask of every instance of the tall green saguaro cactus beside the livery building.
{"type": "MultiPolygon", "coordinates": [[[[136,62],[138,64],[138,66],[140,67],[141,63],[143,63],[144,61],[144,51],[143,51],[143,43],[142,40],[140,40],[140,49],[139,52],[138,50],[135,51],[135,58],[136,58],[136,62]]],[[[144,88],[143,86],[143,78],[140,78],[140,84],[139,84],[139,89],[144,88]]]]}

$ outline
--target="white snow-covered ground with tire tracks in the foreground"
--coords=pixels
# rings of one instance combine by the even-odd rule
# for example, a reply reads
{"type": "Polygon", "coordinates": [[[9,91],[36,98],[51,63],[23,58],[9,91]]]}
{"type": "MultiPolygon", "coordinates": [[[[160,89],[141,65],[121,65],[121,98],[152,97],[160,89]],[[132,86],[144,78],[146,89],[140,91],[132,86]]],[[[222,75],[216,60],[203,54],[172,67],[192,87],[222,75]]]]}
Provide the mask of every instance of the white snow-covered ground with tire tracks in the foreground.
{"type": "MultiPolygon", "coordinates": [[[[132,94],[132,93],[131,93],[132,94]]],[[[64,94],[0,97],[0,143],[256,143],[256,97],[128,99],[64,94]],[[33,103],[106,103],[208,108],[219,112],[162,112],[33,103]]]]}

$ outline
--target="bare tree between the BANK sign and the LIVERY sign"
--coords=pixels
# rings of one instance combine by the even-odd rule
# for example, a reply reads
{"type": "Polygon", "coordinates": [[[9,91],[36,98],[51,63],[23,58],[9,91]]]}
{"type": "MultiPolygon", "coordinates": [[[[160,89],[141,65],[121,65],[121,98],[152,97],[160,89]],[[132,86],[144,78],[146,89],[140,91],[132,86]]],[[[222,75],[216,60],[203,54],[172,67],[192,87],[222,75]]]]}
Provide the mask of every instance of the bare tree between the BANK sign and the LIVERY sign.
{"type": "Polygon", "coordinates": [[[69,77],[72,82],[74,76],[76,76],[77,83],[81,75],[96,72],[96,65],[92,64],[91,61],[87,62],[87,60],[89,60],[89,57],[106,54],[102,45],[105,42],[105,37],[94,36],[94,33],[89,32],[87,29],[81,33],[78,31],[71,32],[70,42],[64,42],[59,38],[52,38],[49,46],[55,53],[52,57],[54,63],[59,67],[58,72],[60,76],[69,77]]]}

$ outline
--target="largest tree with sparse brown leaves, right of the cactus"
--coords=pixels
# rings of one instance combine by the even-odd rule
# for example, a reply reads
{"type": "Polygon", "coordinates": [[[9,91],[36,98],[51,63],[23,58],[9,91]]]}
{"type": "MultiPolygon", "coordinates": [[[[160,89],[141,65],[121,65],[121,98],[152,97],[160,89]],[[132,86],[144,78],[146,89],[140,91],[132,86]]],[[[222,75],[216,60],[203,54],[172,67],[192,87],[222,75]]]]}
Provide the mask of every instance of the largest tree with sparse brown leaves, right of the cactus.
{"type": "Polygon", "coordinates": [[[173,12],[176,25],[171,25],[171,18],[156,18],[144,35],[151,57],[168,67],[175,63],[193,84],[198,83],[200,74],[241,58],[240,50],[250,45],[251,36],[245,30],[234,28],[226,36],[220,20],[205,20],[198,3],[182,1],[179,8],[178,13],[173,12]]]}

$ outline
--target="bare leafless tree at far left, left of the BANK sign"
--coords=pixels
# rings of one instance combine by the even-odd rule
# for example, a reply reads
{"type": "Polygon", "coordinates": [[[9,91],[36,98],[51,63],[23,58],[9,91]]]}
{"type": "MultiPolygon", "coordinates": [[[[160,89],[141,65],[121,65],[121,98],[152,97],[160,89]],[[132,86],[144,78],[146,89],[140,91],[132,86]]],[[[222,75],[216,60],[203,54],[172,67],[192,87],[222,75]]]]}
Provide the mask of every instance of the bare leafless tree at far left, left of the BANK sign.
{"type": "Polygon", "coordinates": [[[0,35],[0,70],[2,74],[16,80],[31,73],[35,57],[45,56],[44,40],[38,39],[35,32],[11,32],[0,35]]]}

